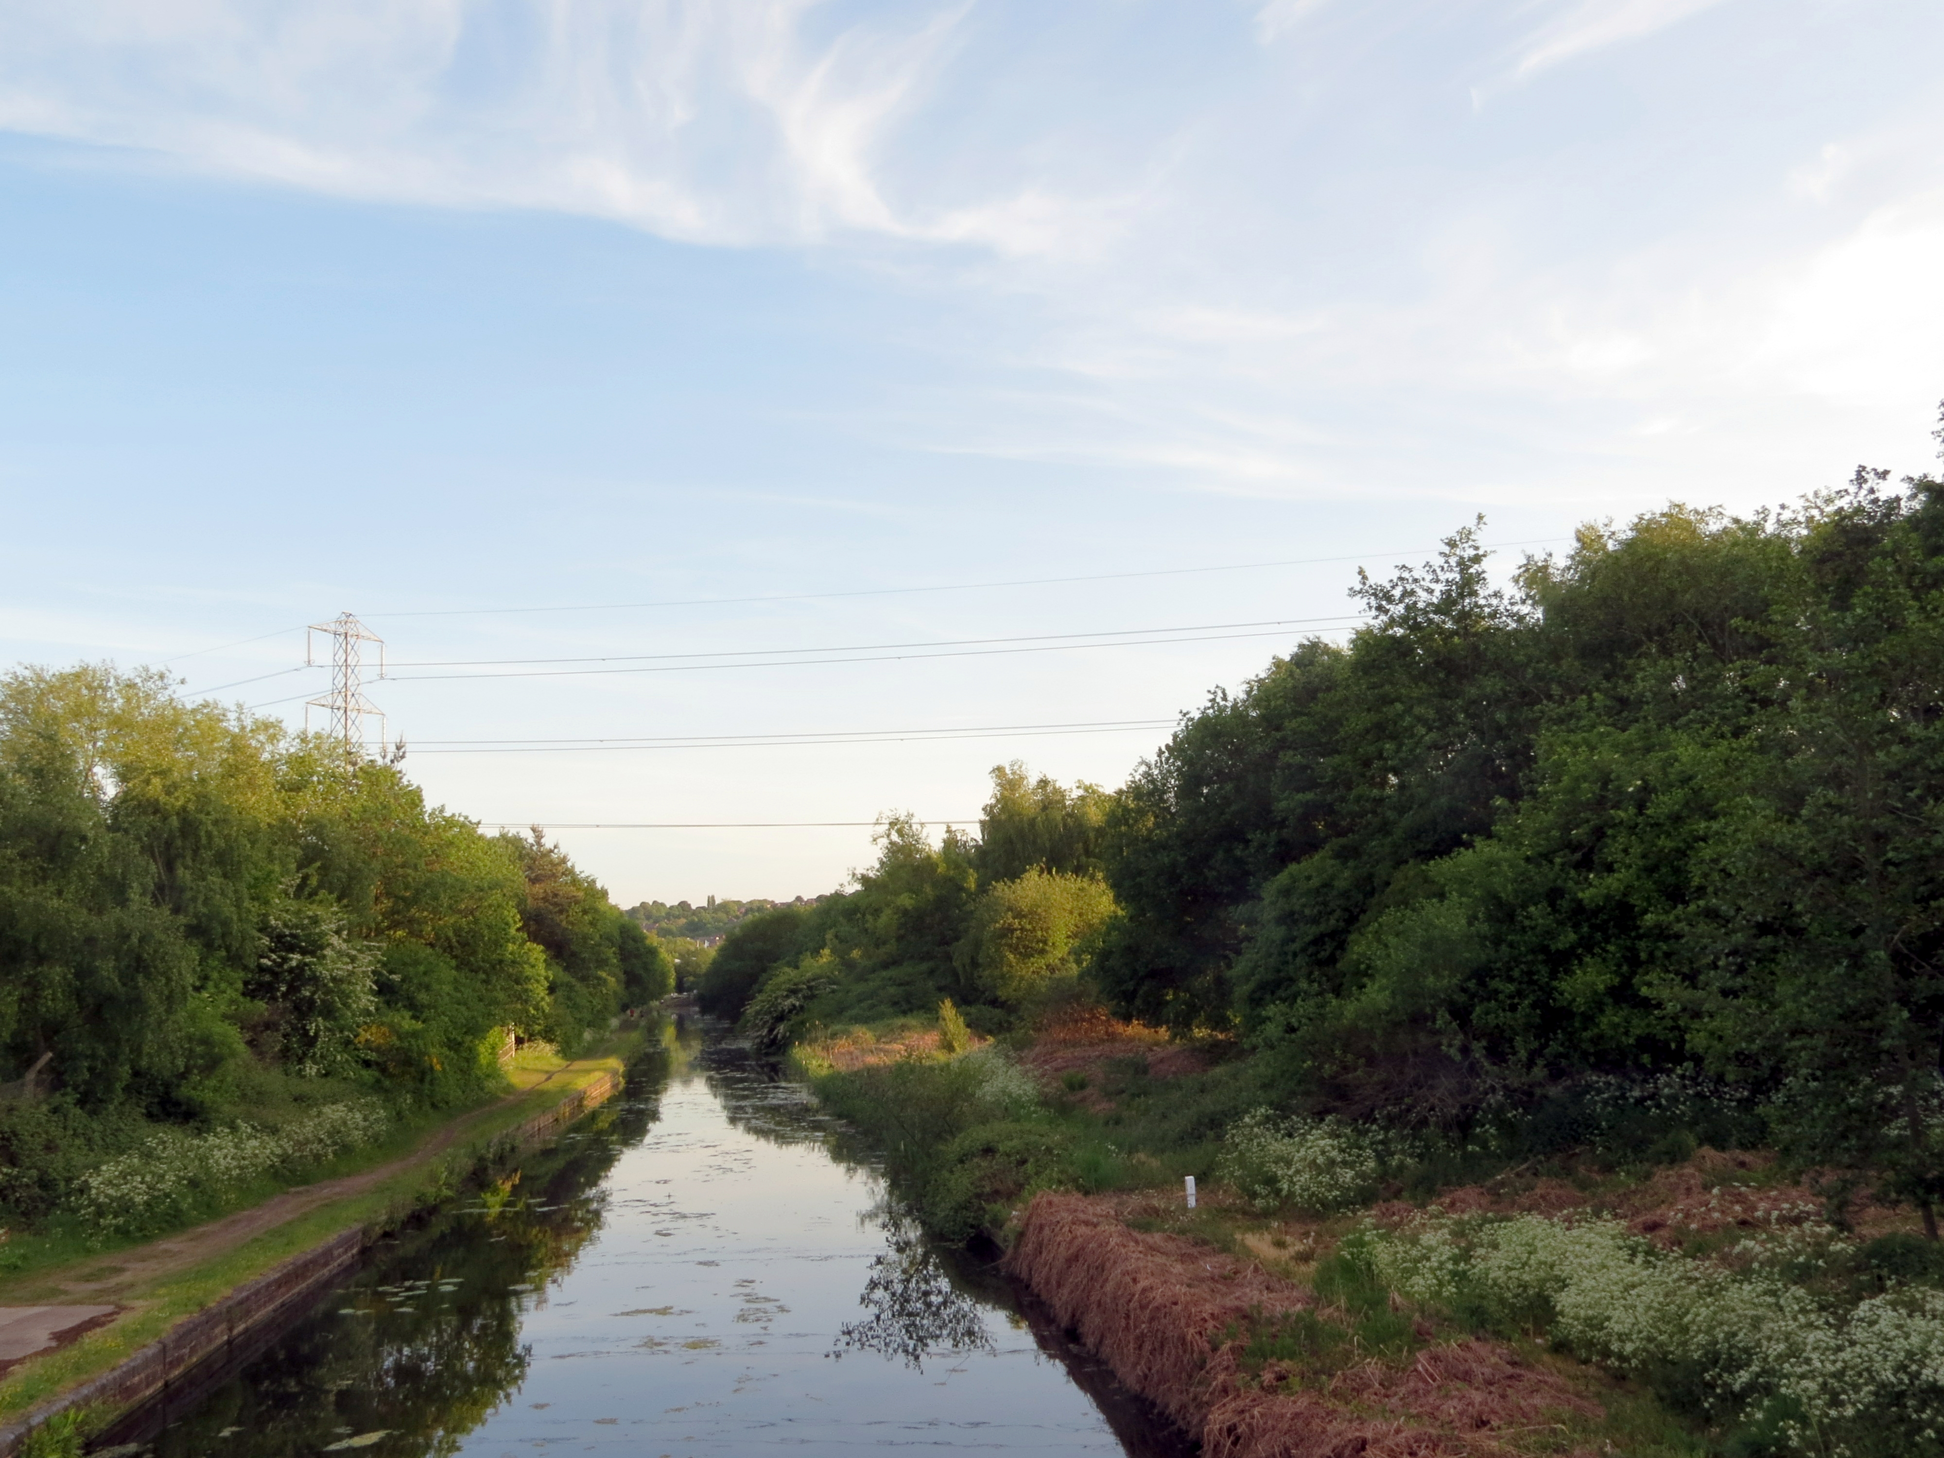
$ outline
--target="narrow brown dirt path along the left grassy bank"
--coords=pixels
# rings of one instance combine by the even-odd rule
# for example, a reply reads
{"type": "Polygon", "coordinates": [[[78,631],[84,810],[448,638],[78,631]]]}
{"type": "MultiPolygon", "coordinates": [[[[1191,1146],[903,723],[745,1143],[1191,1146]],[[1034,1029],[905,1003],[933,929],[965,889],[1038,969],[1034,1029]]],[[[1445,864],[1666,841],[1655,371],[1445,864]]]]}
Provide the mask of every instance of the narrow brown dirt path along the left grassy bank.
{"type": "Polygon", "coordinates": [[[467,1131],[478,1126],[480,1120],[505,1108],[507,1104],[519,1102],[535,1089],[546,1087],[562,1073],[570,1073],[585,1061],[587,1059],[575,1059],[573,1063],[564,1063],[533,1087],[521,1089],[519,1093],[507,1094],[505,1098],[498,1098],[490,1104],[482,1104],[470,1114],[463,1114],[451,1124],[441,1126],[422,1145],[418,1145],[418,1149],[408,1155],[400,1155],[387,1164],[377,1164],[375,1168],[346,1174],[336,1180],[297,1186],[295,1190],[272,1196],[260,1205],[239,1209],[235,1215],[224,1215],[220,1221],[196,1225],[189,1231],[163,1236],[161,1240],[150,1240],[146,1246],[117,1250],[109,1256],[101,1256],[99,1260],[70,1266],[64,1271],[51,1271],[45,1279],[35,1283],[35,1295],[47,1293],[47,1299],[51,1301],[86,1299],[91,1302],[124,1304],[136,1291],[148,1287],[163,1275],[173,1275],[175,1271],[189,1269],[191,1266],[200,1266],[214,1256],[235,1250],[245,1240],[259,1236],[264,1231],[276,1229],[284,1221],[307,1215],[319,1205],[329,1205],[332,1199],[362,1196],[395,1174],[437,1159],[463,1139],[467,1131]]]}

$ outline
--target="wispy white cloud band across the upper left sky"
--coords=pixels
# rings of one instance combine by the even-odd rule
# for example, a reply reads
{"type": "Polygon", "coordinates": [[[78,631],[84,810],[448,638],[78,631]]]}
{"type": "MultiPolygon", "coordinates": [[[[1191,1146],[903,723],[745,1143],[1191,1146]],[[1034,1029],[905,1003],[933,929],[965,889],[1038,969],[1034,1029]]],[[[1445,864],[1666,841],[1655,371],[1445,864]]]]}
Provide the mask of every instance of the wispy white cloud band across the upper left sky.
{"type": "Polygon", "coordinates": [[[354,198],[546,208],[700,243],[1034,251],[1044,189],[925,206],[885,152],[970,0],[56,0],[0,14],[0,128],[354,198]]]}

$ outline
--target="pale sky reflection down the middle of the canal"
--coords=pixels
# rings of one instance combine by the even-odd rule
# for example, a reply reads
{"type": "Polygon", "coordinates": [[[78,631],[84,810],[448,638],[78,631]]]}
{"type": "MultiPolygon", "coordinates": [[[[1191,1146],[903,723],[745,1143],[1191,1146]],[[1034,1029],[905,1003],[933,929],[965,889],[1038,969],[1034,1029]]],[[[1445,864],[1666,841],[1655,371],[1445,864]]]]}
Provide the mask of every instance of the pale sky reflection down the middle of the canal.
{"type": "Polygon", "coordinates": [[[974,1308],[984,1353],[916,1371],[832,1359],[840,1328],[867,1316],[883,1192],[822,1139],[774,1141],[813,1133],[809,1110],[780,1106],[793,1093],[735,1067],[671,1081],[661,1120],[607,1178],[607,1227],[527,1316],[525,1386],[463,1452],[1120,1452],[1065,1371],[991,1306],[974,1308]],[[772,1139],[735,1128],[725,1102],[772,1139]]]}

